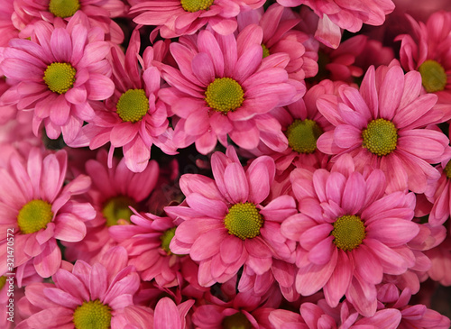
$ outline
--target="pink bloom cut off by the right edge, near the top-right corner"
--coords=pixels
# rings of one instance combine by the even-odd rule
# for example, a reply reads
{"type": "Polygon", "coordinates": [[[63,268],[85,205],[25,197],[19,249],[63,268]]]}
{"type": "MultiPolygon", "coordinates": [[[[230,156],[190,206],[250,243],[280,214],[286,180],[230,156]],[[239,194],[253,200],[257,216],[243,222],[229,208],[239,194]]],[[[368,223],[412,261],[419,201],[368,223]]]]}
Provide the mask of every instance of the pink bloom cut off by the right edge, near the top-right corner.
{"type": "Polygon", "coordinates": [[[438,96],[438,103],[451,102],[451,13],[431,14],[428,22],[415,21],[407,15],[410,34],[401,34],[400,64],[406,71],[419,71],[423,90],[438,96]]]}

